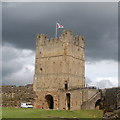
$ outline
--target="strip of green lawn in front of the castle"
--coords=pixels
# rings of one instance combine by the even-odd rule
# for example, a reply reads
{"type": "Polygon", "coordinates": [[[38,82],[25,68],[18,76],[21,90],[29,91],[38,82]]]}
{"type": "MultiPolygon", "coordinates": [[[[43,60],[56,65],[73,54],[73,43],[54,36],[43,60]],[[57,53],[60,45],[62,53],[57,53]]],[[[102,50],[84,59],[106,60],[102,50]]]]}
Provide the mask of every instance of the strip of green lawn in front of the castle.
{"type": "Polygon", "coordinates": [[[101,110],[44,110],[33,108],[2,108],[3,118],[102,118],[101,110]]]}

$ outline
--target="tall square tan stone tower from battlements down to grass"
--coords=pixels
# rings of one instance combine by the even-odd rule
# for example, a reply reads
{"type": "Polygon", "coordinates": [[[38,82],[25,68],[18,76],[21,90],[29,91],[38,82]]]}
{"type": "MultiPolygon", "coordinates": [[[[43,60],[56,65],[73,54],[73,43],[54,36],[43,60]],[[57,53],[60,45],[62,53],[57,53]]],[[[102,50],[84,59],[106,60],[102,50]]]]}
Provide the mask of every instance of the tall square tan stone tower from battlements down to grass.
{"type": "Polygon", "coordinates": [[[34,106],[41,109],[81,109],[85,87],[84,38],[64,30],[59,38],[37,35],[34,106]]]}

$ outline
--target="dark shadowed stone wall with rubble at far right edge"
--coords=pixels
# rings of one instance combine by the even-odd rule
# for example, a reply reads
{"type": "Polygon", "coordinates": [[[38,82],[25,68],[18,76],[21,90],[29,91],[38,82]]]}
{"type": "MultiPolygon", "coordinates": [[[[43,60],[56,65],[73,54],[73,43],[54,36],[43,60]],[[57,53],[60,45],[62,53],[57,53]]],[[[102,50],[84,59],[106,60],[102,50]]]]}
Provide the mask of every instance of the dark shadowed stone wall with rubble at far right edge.
{"type": "Polygon", "coordinates": [[[120,118],[120,87],[102,90],[102,102],[105,120],[120,118]]]}

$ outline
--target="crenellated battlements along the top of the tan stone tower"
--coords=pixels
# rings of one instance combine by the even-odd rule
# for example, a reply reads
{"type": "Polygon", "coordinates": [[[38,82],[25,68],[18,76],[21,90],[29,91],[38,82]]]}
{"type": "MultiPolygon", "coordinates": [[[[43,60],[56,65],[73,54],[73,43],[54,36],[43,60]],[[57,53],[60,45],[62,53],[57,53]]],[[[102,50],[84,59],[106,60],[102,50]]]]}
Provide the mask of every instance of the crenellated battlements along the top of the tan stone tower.
{"type": "Polygon", "coordinates": [[[38,34],[36,40],[36,46],[44,46],[49,44],[56,43],[71,43],[76,46],[81,46],[84,48],[84,37],[83,36],[74,36],[73,32],[70,30],[63,30],[63,33],[58,38],[48,38],[46,34],[38,34]]]}

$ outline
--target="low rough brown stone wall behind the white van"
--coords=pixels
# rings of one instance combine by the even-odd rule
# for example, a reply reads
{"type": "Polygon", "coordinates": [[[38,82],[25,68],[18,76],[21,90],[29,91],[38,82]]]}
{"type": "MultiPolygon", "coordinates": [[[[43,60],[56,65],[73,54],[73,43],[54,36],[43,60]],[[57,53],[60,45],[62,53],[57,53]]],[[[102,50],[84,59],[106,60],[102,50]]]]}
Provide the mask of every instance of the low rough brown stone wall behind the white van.
{"type": "Polygon", "coordinates": [[[20,107],[22,102],[31,102],[33,104],[35,92],[33,85],[26,86],[2,86],[2,106],[20,107]]]}

